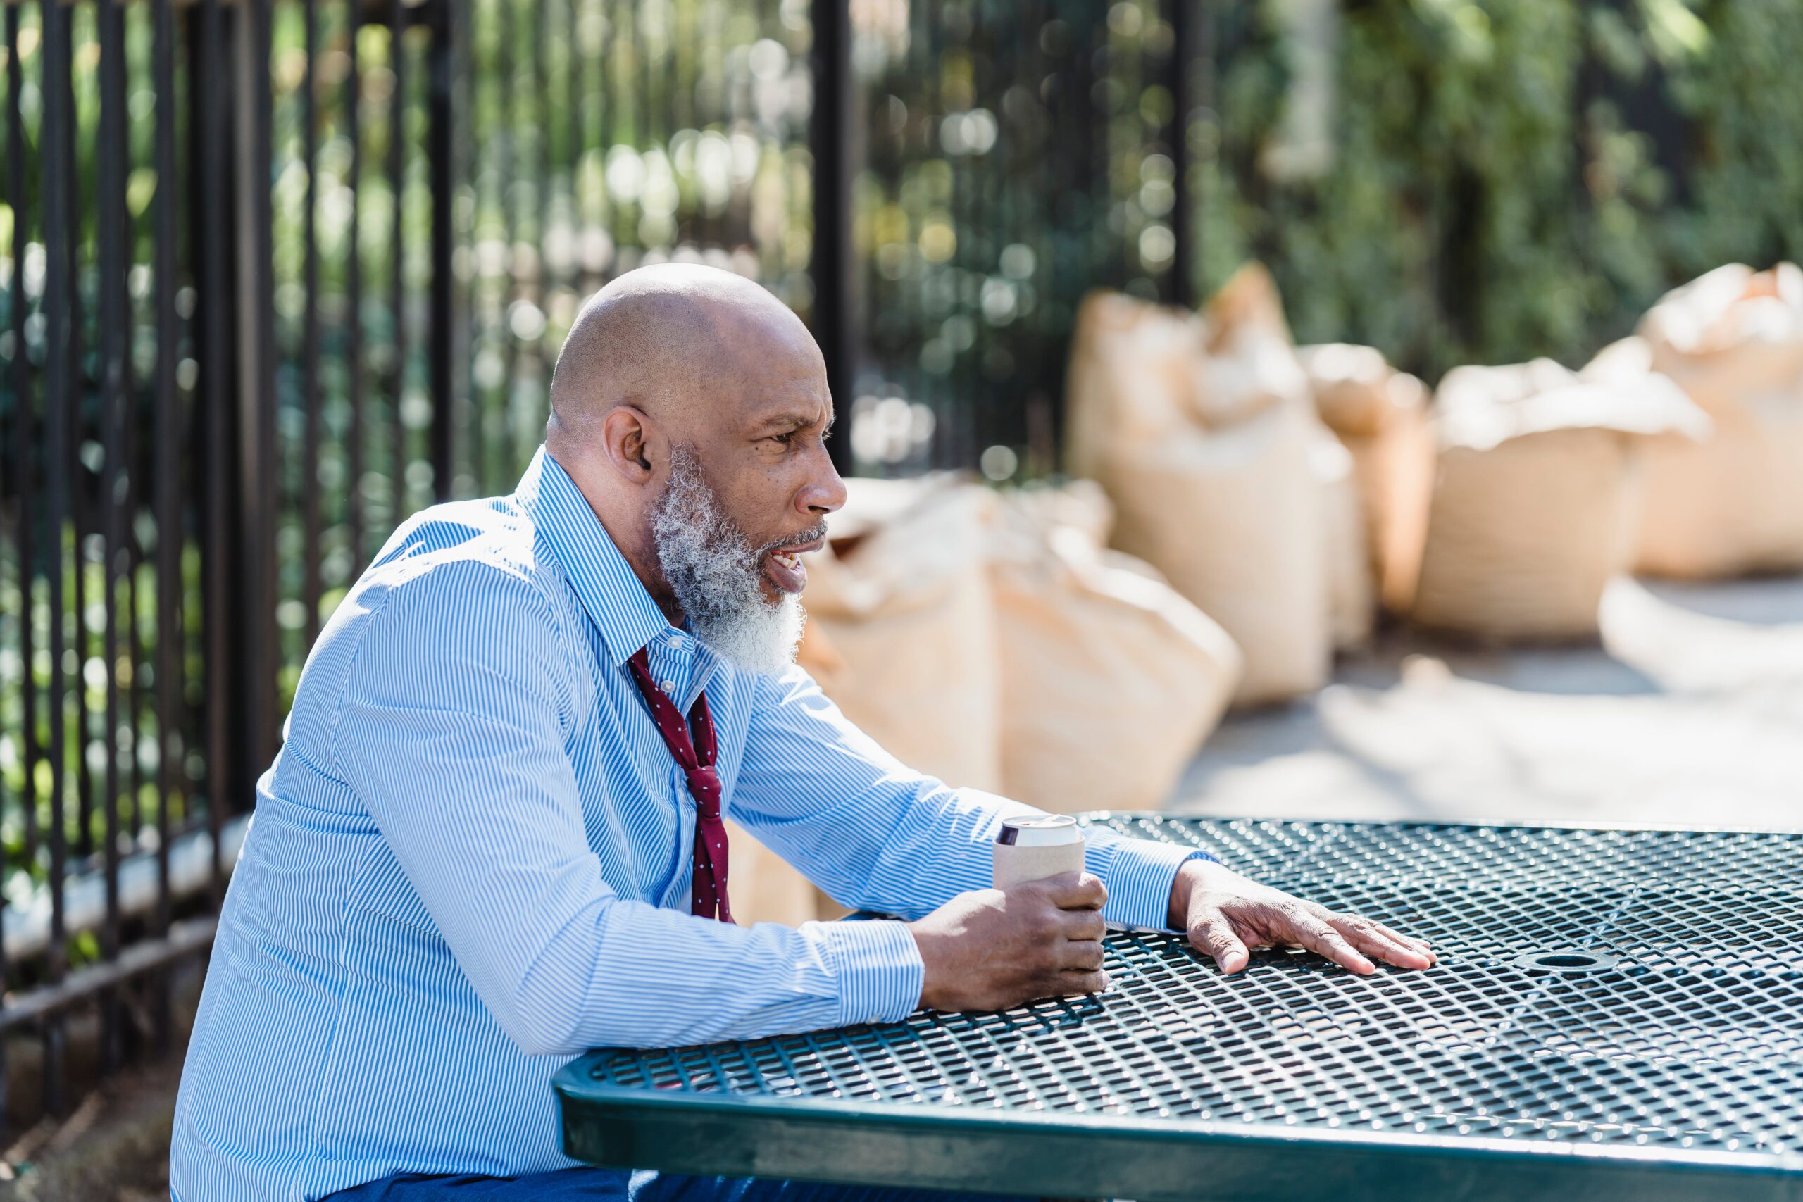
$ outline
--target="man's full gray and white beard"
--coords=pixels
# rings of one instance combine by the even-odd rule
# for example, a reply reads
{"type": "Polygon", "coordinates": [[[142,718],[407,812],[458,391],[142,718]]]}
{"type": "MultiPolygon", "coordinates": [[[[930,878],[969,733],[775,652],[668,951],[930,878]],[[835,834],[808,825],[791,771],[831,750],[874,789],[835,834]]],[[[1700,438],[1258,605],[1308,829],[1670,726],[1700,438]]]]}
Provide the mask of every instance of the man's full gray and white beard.
{"type": "Polygon", "coordinates": [[[671,449],[671,478],[651,510],[658,566],[694,636],[741,672],[773,676],[795,661],[801,598],[764,596],[763,553],[719,508],[691,447],[671,449]]]}

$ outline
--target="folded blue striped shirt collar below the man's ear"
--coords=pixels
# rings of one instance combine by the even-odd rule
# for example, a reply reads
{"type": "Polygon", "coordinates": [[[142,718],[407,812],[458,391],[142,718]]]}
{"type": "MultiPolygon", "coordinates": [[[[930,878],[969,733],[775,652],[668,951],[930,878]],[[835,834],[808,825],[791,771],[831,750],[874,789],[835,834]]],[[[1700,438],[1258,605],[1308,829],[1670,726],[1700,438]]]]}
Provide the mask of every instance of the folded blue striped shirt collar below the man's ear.
{"type": "Polygon", "coordinates": [[[532,456],[514,496],[532,514],[590,622],[600,631],[613,667],[653,640],[676,633],[595,517],[588,497],[545,447],[532,456]]]}

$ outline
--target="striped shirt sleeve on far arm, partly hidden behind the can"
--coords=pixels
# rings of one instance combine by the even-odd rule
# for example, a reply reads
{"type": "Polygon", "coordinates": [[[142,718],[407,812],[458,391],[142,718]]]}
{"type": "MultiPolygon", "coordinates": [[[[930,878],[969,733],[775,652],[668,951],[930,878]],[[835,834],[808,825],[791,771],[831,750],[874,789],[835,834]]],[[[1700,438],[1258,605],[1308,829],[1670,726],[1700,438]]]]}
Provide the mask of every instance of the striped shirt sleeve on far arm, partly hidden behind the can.
{"type": "MultiPolygon", "coordinates": [[[[730,807],[736,822],[840,905],[903,917],[988,888],[990,843],[1002,818],[1040,813],[903,766],[799,667],[764,685],[730,807]]],[[[1123,926],[1165,928],[1177,865],[1213,860],[1094,827],[1084,842],[1084,867],[1109,888],[1102,915],[1123,926]]]]}

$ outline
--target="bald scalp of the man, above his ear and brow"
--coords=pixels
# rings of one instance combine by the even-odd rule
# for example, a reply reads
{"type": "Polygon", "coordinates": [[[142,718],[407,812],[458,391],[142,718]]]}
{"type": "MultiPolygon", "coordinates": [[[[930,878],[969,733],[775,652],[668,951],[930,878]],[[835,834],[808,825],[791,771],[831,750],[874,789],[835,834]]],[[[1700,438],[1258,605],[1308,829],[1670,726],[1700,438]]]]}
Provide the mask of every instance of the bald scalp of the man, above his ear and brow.
{"type": "Polygon", "coordinates": [[[626,272],[577,314],[552,375],[552,443],[586,442],[617,405],[687,433],[730,404],[772,359],[815,366],[795,314],[761,285],[714,267],[626,272]]]}

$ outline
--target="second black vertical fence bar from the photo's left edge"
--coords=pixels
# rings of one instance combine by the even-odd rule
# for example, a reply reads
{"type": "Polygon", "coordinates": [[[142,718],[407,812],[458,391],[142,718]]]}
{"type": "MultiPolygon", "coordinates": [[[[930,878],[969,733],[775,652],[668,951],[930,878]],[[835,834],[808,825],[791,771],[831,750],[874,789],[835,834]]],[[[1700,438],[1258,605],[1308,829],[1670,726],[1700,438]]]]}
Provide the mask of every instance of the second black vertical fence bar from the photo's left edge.
{"type": "MultiPolygon", "coordinates": [[[[69,434],[72,429],[74,380],[70,378],[70,303],[74,281],[70,263],[69,213],[74,180],[69,175],[69,155],[63,146],[72,141],[69,121],[74,97],[69,87],[70,11],[61,0],[41,0],[43,50],[41,94],[43,121],[38,139],[43,169],[43,332],[45,332],[45,562],[50,602],[50,942],[47,979],[61,980],[67,968],[63,876],[69,870],[69,831],[63,822],[65,789],[65,732],[69,723],[63,674],[63,515],[69,508],[69,434]]],[[[67,1108],[63,1090],[63,1027],[58,1016],[43,1024],[43,1108],[61,1114],[67,1108]]]]}

